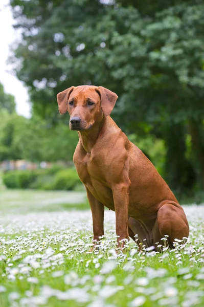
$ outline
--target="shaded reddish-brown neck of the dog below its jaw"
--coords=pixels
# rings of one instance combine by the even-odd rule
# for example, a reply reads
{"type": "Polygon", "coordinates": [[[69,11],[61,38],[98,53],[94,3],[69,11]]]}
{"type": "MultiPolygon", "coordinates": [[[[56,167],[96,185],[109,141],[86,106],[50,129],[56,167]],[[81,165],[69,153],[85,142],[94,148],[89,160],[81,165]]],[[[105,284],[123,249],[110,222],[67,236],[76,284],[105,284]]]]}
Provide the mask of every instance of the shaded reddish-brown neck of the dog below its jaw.
{"type": "Polygon", "coordinates": [[[102,131],[104,131],[109,116],[103,116],[102,120],[98,125],[94,125],[90,130],[78,131],[79,140],[86,152],[91,152],[92,148],[96,144],[102,131]]]}

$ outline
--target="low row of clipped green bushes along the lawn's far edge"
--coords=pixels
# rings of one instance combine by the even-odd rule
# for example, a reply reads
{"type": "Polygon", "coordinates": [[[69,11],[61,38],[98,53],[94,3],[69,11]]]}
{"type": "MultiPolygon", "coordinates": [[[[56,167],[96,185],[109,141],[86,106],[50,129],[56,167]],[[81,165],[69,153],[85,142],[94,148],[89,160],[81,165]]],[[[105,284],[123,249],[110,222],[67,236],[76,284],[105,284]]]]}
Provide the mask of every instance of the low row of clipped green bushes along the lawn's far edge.
{"type": "Polygon", "coordinates": [[[73,190],[81,185],[74,168],[59,169],[56,166],[51,169],[7,171],[3,174],[3,183],[7,188],[39,190],[73,190]]]}

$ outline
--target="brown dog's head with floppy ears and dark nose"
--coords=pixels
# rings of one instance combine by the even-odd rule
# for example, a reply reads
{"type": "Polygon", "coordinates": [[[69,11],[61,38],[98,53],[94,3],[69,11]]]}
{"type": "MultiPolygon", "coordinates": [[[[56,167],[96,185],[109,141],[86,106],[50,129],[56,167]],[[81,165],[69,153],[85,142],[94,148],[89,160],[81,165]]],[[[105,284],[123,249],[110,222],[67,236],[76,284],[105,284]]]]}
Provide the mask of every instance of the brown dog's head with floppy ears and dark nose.
{"type": "Polygon", "coordinates": [[[89,130],[110,115],[118,96],[103,86],[72,86],[57,95],[59,113],[70,114],[71,130],[89,130]]]}

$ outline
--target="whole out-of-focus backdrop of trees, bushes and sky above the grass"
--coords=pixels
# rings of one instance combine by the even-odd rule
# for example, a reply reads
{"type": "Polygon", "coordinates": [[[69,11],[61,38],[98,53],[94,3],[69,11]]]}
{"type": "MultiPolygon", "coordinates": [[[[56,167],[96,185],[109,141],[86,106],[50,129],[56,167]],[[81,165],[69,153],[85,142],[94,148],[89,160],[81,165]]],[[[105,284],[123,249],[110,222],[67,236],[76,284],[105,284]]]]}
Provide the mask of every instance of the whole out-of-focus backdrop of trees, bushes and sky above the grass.
{"type": "Polygon", "coordinates": [[[112,118],[178,200],[204,200],[204,1],[2,0],[0,14],[0,55],[10,43],[2,191],[83,190],[72,163],[78,135],[56,95],[93,84],[117,93],[112,118]]]}

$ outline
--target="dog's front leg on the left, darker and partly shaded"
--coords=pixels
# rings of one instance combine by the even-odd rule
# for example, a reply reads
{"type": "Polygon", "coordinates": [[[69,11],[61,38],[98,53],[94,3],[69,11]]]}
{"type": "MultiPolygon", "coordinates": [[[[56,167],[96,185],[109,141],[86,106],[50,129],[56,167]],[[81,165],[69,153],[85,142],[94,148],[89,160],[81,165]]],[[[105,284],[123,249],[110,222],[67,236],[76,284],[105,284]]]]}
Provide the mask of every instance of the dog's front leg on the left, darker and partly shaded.
{"type": "Polygon", "coordinates": [[[104,205],[101,204],[90,191],[86,188],[88,202],[90,209],[92,210],[93,218],[93,231],[94,231],[94,245],[100,240],[100,237],[104,235],[103,221],[104,221],[104,205]]]}

